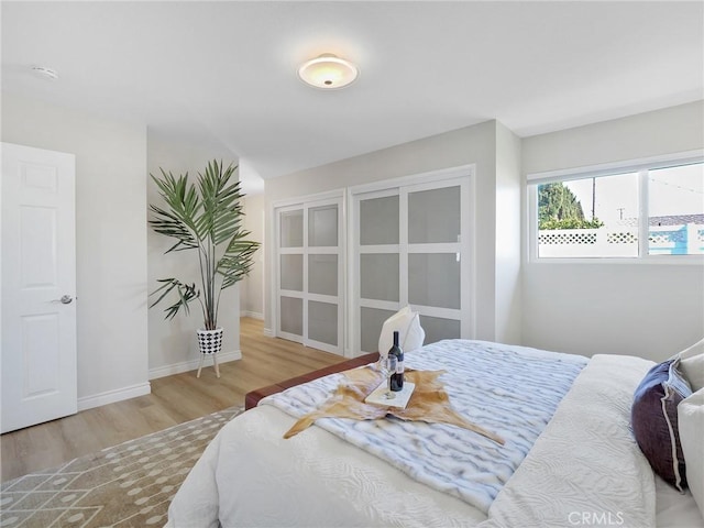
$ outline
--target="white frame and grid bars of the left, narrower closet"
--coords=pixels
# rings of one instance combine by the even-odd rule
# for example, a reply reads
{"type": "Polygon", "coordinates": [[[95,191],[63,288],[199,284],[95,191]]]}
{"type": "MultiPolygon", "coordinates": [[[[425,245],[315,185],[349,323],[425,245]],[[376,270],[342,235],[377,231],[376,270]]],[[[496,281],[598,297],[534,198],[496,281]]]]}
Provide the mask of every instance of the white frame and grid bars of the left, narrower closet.
{"type": "Polygon", "coordinates": [[[344,191],[331,191],[319,195],[305,196],[300,198],[280,200],[272,204],[272,219],[274,226],[274,257],[272,258],[272,277],[274,278],[274,287],[272,288],[272,329],[274,337],[287,339],[289,341],[301,343],[304,346],[311,346],[333,354],[344,355],[345,350],[345,328],[346,320],[346,229],[345,229],[345,204],[344,191]],[[338,245],[337,246],[309,246],[308,245],[308,211],[324,206],[338,207],[338,245]],[[300,249],[282,248],[282,213],[295,210],[302,210],[302,246],[300,249]],[[280,256],[284,254],[300,254],[302,256],[302,289],[301,292],[286,290],[280,287],[280,256]],[[321,294],[311,294],[308,292],[308,256],[310,254],[334,254],[338,256],[338,292],[337,296],[328,296],[321,294]],[[302,332],[301,336],[285,332],[280,329],[280,297],[300,298],[302,301],[302,332]],[[337,297],[337,300],[333,299],[337,297]],[[321,341],[316,341],[308,337],[308,302],[319,301],[328,304],[337,304],[338,321],[337,336],[338,344],[332,345],[321,341]]]}

